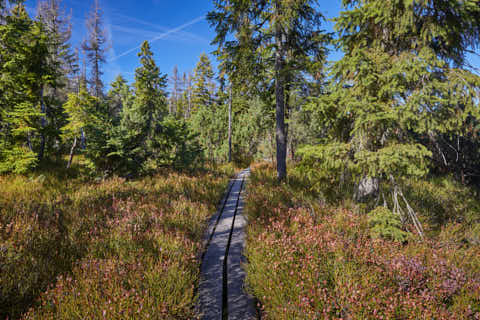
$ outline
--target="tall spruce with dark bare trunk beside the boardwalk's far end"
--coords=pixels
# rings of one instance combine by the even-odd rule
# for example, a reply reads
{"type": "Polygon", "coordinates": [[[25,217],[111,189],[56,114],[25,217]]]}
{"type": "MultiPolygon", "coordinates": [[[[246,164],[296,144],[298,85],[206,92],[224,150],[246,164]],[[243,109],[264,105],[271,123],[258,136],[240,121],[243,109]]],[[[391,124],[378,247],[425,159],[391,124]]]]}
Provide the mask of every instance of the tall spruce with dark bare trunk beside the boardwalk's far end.
{"type": "MultiPolygon", "coordinates": [[[[285,89],[296,61],[323,59],[328,37],[320,29],[322,15],[317,1],[269,0],[260,2],[216,0],[208,20],[215,27],[217,54],[229,61],[229,75],[250,73],[262,77],[272,70],[276,104],[277,176],[286,178],[287,133],[285,127],[285,89]],[[229,35],[234,35],[231,40],[229,35]],[[288,60],[292,52],[295,59],[288,60]]],[[[310,63],[308,63],[310,65],[310,63]]],[[[252,79],[252,76],[246,79],[252,79]]],[[[253,86],[258,82],[250,81],[253,86]]],[[[267,95],[268,96],[268,95],[267,95]]]]}

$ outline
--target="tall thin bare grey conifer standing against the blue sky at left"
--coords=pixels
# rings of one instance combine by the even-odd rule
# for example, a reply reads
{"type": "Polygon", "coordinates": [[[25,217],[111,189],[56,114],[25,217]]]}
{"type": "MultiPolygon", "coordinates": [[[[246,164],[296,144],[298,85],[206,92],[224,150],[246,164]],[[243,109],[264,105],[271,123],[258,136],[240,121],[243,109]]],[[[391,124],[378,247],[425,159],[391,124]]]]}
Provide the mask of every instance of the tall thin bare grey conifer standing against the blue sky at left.
{"type": "Polygon", "coordinates": [[[86,21],[88,38],[83,41],[84,50],[91,68],[90,86],[93,95],[97,98],[103,96],[102,64],[106,62],[106,52],[109,49],[107,33],[103,27],[103,11],[99,0],[95,0],[94,7],[86,21]]]}

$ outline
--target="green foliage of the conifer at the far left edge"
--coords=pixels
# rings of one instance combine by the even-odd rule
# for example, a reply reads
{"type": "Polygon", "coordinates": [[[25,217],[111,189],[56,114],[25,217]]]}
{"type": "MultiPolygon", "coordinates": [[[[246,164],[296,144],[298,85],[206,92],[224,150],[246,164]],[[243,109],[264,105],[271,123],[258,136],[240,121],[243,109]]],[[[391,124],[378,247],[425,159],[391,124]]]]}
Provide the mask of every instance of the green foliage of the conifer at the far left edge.
{"type": "Polygon", "coordinates": [[[0,171],[25,172],[35,166],[35,136],[42,132],[42,88],[55,82],[47,64],[47,35],[22,4],[0,24],[0,171]],[[18,159],[18,161],[17,161],[18,159]]]}

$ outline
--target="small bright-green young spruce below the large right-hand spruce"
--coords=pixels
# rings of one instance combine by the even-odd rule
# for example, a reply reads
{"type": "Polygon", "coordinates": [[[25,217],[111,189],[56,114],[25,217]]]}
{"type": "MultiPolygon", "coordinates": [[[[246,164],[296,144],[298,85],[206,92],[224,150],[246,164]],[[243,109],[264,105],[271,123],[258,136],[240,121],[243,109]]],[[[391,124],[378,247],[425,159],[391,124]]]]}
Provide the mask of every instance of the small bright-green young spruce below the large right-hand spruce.
{"type": "Polygon", "coordinates": [[[407,240],[408,233],[402,230],[400,217],[385,207],[377,207],[368,213],[368,223],[373,238],[398,242],[407,240]]]}

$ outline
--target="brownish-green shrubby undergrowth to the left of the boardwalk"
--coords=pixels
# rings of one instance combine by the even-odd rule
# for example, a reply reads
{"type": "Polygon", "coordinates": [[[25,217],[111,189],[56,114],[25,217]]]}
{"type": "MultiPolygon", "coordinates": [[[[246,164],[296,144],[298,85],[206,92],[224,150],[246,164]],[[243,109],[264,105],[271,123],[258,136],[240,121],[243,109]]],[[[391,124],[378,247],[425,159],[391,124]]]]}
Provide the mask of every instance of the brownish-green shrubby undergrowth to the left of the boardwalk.
{"type": "Polygon", "coordinates": [[[203,232],[231,173],[0,177],[0,318],[193,318],[203,232]]]}

